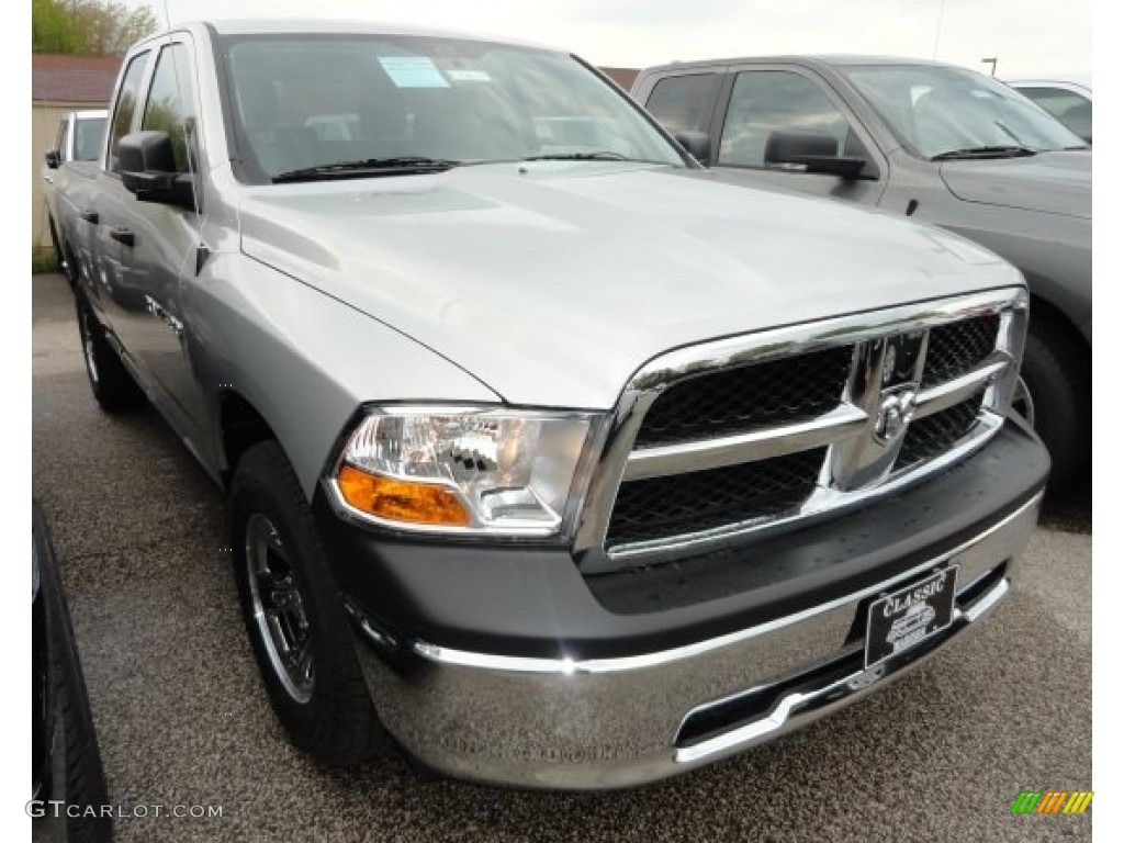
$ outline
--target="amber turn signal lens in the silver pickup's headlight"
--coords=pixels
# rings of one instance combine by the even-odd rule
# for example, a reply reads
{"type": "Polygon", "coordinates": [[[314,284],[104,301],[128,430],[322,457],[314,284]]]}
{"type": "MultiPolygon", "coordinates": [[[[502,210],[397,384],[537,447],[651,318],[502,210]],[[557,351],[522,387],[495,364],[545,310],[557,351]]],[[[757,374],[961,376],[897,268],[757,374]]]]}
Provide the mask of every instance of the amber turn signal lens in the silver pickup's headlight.
{"type": "Polygon", "coordinates": [[[344,500],[356,509],[395,522],[466,527],[469,514],[456,492],[434,483],[392,480],[351,465],[336,477],[344,500]]]}

